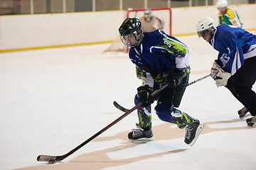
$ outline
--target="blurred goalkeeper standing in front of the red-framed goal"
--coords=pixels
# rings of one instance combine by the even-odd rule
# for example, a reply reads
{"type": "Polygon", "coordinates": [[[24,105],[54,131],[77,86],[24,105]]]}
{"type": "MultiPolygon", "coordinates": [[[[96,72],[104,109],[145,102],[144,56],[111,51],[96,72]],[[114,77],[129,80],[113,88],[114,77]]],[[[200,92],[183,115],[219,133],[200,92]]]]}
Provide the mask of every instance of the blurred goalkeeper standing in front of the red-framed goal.
{"type": "Polygon", "coordinates": [[[153,16],[150,9],[146,9],[144,11],[144,16],[139,18],[139,21],[142,23],[142,29],[144,32],[152,32],[157,29],[163,30],[164,28],[164,19],[153,16]]]}

